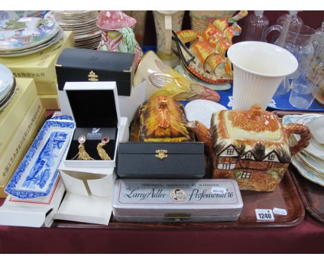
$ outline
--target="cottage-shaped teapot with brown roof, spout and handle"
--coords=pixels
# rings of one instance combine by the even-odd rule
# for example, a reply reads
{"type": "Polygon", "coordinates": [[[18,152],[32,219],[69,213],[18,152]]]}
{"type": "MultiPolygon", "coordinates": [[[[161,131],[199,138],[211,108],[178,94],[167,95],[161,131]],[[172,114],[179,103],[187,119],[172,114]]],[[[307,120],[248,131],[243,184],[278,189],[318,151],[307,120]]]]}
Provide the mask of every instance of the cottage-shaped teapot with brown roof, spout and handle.
{"type": "Polygon", "coordinates": [[[291,156],[309,144],[309,128],[301,124],[283,126],[278,117],[262,110],[214,112],[208,130],[199,121],[186,123],[199,142],[204,142],[212,164],[213,178],[233,178],[242,190],[274,191],[284,175],[291,156]],[[300,135],[289,146],[291,134],[300,135]]]}

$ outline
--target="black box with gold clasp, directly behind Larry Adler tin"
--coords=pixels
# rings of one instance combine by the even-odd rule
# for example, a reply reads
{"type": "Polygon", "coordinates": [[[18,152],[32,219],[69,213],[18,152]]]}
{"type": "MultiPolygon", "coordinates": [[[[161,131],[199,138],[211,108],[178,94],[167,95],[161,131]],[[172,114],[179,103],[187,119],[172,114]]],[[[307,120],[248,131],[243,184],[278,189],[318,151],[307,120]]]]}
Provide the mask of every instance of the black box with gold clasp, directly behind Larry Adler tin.
{"type": "Polygon", "coordinates": [[[200,142],[120,142],[120,178],[202,178],[204,144],[200,142]]]}

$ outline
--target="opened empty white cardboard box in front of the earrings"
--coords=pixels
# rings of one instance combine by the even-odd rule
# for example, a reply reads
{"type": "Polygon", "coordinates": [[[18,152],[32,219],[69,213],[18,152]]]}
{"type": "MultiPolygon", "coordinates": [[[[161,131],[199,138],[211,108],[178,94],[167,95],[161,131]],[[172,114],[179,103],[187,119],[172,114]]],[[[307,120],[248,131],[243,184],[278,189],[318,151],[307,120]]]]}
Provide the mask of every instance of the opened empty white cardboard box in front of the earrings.
{"type": "MultiPolygon", "coordinates": [[[[120,141],[128,141],[126,117],[120,118],[120,141]]],[[[99,223],[108,225],[111,201],[117,178],[114,168],[71,168],[61,162],[60,174],[66,187],[66,196],[55,212],[54,219],[99,223]]]]}

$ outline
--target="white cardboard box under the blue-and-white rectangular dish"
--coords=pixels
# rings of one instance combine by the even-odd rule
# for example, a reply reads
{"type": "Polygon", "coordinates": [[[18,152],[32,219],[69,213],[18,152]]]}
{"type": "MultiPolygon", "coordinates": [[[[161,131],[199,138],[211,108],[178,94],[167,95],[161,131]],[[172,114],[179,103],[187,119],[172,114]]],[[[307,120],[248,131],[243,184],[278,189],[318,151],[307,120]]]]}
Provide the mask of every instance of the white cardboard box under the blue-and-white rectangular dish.
{"type": "Polygon", "coordinates": [[[7,196],[0,207],[0,225],[51,227],[64,191],[62,179],[57,178],[52,192],[47,196],[24,200],[7,196]]]}

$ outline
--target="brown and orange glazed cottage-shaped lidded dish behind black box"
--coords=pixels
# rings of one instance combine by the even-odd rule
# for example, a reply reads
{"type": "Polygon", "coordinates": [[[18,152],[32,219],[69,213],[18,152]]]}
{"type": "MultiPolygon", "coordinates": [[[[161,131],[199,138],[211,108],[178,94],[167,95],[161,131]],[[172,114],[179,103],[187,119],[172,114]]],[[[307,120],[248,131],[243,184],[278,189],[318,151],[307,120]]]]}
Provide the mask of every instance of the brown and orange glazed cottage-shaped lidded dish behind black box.
{"type": "Polygon", "coordinates": [[[139,109],[132,126],[133,142],[188,142],[194,140],[188,132],[183,105],[168,96],[156,96],[139,109]]]}

